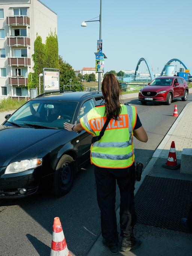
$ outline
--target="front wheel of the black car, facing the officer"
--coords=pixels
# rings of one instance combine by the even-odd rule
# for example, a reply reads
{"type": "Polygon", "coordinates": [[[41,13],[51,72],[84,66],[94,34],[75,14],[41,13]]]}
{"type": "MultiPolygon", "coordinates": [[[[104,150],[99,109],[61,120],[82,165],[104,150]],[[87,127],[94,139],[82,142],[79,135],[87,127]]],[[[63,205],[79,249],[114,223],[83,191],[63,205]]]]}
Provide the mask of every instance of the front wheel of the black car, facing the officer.
{"type": "Polygon", "coordinates": [[[55,168],[53,193],[65,195],[73,186],[76,166],[71,156],[63,155],[55,168]]]}

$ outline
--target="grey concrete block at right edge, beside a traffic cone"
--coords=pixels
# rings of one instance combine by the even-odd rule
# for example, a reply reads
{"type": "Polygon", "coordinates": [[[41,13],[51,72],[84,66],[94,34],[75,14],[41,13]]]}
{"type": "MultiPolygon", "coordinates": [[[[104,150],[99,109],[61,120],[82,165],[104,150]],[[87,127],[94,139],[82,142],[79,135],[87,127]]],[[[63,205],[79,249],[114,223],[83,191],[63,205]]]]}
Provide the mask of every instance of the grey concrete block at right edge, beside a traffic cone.
{"type": "Polygon", "coordinates": [[[192,174],[192,149],[183,149],[180,173],[192,174]]]}

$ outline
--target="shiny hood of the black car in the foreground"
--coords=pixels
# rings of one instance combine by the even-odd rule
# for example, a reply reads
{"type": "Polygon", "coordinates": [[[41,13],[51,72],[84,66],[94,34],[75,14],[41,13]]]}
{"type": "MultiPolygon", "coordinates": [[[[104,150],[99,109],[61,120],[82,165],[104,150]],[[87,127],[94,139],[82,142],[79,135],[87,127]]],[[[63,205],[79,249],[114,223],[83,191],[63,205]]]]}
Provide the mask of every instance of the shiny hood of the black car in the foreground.
{"type": "MultiPolygon", "coordinates": [[[[66,134],[65,130],[7,127],[0,125],[0,167],[17,159],[33,158],[55,136],[66,134]],[[63,134],[64,133],[64,134],[63,134]],[[29,153],[30,152],[30,153],[29,153]],[[30,155],[30,156],[29,156],[30,155]]],[[[16,160],[19,161],[19,160],[16,160]]]]}

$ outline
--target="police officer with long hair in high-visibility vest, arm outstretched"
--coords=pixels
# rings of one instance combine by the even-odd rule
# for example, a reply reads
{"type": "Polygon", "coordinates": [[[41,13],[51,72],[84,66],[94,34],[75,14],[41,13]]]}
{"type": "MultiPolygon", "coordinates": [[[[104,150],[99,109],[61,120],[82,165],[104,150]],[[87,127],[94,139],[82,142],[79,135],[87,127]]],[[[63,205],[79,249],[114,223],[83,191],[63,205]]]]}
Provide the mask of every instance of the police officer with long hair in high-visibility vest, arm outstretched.
{"type": "Polygon", "coordinates": [[[119,186],[121,250],[140,246],[134,237],[136,223],[134,204],[135,164],[133,136],[147,142],[147,134],[141,125],[135,106],[120,104],[120,86],[113,74],[107,74],[102,82],[105,104],[91,109],[80,119],[80,124],[65,123],[68,131],[85,129],[98,136],[106,119],[110,122],[103,137],[91,146],[91,163],[94,164],[97,185],[97,202],[101,211],[103,244],[113,254],[118,254],[118,231],[115,212],[116,181],[119,186]]]}

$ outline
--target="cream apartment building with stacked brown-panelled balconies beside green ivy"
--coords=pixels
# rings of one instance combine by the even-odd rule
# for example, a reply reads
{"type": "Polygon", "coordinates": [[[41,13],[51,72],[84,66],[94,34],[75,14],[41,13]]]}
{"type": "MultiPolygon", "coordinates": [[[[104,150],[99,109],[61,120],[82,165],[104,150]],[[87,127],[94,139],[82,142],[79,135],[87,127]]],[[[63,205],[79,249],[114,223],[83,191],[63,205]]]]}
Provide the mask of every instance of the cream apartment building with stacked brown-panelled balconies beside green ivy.
{"type": "Polygon", "coordinates": [[[57,33],[57,14],[39,0],[0,0],[0,99],[26,97],[36,34],[57,33]]]}

